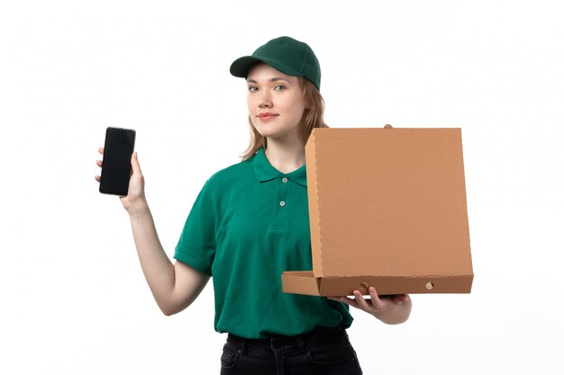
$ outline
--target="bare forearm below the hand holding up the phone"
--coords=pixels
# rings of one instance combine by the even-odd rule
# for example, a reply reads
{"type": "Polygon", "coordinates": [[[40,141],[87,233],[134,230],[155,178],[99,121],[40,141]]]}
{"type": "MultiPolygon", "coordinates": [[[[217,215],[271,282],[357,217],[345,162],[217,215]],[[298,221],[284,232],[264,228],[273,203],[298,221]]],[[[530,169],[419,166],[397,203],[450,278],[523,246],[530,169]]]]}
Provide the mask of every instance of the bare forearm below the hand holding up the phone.
{"type": "Polygon", "coordinates": [[[160,244],[149,206],[145,203],[129,213],[141,269],[159,308],[167,314],[174,304],[174,265],[160,244]]]}

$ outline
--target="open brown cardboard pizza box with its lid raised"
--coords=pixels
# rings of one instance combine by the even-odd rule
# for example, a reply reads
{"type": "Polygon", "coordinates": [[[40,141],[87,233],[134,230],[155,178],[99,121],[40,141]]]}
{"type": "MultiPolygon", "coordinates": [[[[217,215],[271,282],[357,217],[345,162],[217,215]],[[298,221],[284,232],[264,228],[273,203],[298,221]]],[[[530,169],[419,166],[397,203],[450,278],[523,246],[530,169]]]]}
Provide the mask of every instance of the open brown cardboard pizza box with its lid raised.
{"type": "Polygon", "coordinates": [[[314,129],[305,157],[314,269],[285,292],[470,292],[460,129],[314,129]]]}

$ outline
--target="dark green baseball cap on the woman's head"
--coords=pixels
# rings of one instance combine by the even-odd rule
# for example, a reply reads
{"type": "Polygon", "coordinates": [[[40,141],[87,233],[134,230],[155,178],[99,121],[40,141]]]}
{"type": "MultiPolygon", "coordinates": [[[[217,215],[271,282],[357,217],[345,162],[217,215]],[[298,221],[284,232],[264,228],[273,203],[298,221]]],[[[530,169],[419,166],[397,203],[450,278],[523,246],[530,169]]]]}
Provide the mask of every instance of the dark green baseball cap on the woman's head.
{"type": "Polygon", "coordinates": [[[288,76],[303,76],[310,80],[317,90],[321,85],[321,68],[314,51],[303,41],[290,37],[269,40],[250,56],[233,61],[229,71],[233,76],[246,78],[249,69],[257,62],[263,62],[288,76]]]}

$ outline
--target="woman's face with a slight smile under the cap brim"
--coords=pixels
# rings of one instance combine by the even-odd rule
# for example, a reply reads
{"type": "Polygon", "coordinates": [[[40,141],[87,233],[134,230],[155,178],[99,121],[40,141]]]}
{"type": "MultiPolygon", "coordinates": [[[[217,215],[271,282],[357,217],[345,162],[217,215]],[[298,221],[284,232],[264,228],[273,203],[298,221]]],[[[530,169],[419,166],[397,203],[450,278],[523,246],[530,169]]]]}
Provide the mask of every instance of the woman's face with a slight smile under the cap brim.
{"type": "Polygon", "coordinates": [[[260,135],[298,140],[305,104],[297,77],[259,64],[250,70],[247,86],[250,120],[260,135]]]}

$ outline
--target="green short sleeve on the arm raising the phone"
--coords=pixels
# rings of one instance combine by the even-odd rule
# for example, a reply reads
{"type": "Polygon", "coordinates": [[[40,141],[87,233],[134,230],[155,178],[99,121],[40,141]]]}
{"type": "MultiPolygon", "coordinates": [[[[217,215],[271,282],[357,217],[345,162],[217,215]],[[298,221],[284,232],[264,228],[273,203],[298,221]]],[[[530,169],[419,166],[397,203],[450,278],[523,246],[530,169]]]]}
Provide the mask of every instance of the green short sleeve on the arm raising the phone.
{"type": "Polygon", "coordinates": [[[178,240],[174,258],[212,276],[215,256],[216,202],[210,182],[198,194],[178,240]]]}

